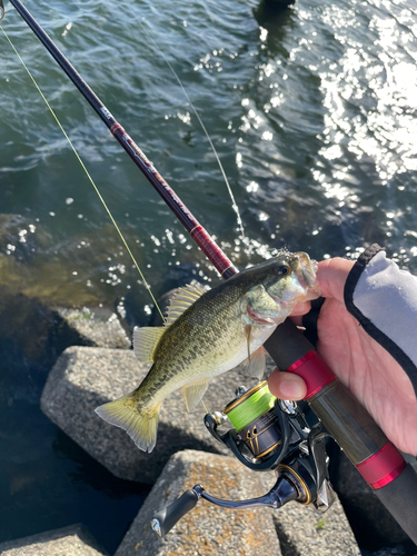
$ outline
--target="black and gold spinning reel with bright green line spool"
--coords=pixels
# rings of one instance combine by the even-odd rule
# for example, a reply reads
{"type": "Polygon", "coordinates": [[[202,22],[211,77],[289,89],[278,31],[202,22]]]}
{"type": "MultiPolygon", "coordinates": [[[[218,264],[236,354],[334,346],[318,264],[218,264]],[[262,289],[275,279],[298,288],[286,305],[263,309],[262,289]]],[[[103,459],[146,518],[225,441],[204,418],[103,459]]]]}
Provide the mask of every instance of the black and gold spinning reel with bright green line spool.
{"type": "Polygon", "coordinates": [[[278,509],[296,500],[305,506],[312,505],[321,513],[334,503],[325,450],[327,433],[320,423],[309,427],[299,406],[275,398],[266,381],[249,390],[239,386],[236,398],[222,411],[206,415],[205,425],[216,440],[227,446],[249,469],[275,469],[277,481],[265,496],[237,502],[215,498],[201,485],[196,485],[155,514],[151,527],[159,536],[167,535],[200,498],[232,509],[278,509]],[[232,428],[220,431],[227,421],[232,428]]]}

